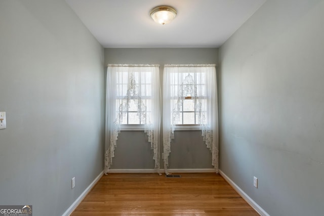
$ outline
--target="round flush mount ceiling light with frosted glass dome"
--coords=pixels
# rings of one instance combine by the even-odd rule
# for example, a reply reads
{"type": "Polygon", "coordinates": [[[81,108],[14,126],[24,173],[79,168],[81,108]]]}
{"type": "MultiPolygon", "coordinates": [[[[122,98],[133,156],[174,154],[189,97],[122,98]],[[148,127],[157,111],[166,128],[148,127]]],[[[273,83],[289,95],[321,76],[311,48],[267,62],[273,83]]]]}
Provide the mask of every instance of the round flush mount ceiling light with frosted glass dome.
{"type": "Polygon", "coordinates": [[[152,9],[150,15],[155,22],[164,25],[177,16],[177,11],[169,6],[159,6],[152,9]]]}

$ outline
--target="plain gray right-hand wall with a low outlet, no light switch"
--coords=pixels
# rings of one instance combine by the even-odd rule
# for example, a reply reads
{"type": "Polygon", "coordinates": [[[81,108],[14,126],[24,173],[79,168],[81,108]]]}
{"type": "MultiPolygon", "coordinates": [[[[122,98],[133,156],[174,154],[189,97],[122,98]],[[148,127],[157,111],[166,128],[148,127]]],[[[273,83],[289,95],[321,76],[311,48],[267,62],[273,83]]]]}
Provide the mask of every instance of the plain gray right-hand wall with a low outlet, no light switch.
{"type": "Polygon", "coordinates": [[[324,212],[323,11],[267,1],[220,48],[220,169],[272,216],[324,212]]]}

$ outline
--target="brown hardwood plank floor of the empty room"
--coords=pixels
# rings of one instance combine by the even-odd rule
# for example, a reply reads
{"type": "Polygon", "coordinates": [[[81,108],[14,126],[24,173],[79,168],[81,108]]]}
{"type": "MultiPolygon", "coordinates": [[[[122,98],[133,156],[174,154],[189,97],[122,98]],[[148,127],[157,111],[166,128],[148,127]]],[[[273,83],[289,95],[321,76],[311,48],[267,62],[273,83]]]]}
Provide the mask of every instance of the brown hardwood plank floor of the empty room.
{"type": "Polygon", "coordinates": [[[71,215],[259,215],[220,175],[180,175],[108,174],[71,215]]]}

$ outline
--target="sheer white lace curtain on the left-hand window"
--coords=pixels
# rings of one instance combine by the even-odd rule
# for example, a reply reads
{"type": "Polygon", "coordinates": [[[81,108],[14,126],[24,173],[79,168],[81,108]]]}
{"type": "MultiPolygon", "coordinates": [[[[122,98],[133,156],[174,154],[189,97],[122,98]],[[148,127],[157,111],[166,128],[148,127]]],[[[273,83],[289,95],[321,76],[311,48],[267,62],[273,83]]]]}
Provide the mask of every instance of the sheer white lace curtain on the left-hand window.
{"type": "Polygon", "coordinates": [[[144,126],[159,172],[159,87],[159,65],[108,65],[105,174],[112,164],[122,124],[144,126]]]}

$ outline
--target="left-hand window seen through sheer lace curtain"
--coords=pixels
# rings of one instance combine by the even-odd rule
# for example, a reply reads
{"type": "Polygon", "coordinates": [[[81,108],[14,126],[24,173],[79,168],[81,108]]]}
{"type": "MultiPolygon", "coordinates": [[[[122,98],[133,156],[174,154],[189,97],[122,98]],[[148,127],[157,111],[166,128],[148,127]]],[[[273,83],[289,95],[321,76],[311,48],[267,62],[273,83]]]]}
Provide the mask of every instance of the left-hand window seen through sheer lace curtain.
{"type": "Polygon", "coordinates": [[[107,97],[119,127],[153,123],[160,109],[158,65],[108,65],[107,97]]]}

